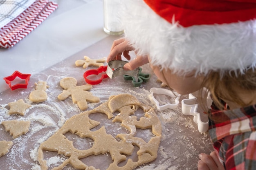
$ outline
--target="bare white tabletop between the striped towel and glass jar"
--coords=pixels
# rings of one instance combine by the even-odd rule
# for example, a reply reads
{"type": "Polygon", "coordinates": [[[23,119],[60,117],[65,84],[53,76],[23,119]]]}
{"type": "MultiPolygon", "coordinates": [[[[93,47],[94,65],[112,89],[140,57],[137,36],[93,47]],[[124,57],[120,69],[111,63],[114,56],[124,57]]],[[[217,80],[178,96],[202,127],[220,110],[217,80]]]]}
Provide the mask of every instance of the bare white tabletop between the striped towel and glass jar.
{"type": "Polygon", "coordinates": [[[52,0],[56,9],[10,49],[0,49],[0,92],[14,71],[34,75],[106,38],[102,0],[52,0]]]}

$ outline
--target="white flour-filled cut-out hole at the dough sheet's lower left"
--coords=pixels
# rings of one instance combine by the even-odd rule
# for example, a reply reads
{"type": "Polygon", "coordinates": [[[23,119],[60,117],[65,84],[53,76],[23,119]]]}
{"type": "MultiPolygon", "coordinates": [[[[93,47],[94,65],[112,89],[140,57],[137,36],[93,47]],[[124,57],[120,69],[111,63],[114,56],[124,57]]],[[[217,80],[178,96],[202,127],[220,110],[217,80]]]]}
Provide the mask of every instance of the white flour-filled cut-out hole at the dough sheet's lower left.
{"type": "Polygon", "coordinates": [[[65,157],[64,155],[58,154],[57,152],[52,152],[48,150],[43,150],[44,159],[46,160],[46,164],[49,167],[49,170],[52,170],[55,167],[60,166],[66,159],[69,157],[65,157]]]}

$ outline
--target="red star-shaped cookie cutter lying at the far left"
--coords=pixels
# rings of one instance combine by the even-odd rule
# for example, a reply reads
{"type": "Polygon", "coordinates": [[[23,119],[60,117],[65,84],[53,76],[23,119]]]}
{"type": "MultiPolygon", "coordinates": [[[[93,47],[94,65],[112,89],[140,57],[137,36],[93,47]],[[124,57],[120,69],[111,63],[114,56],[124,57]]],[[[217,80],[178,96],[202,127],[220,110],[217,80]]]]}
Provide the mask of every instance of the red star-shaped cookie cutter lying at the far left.
{"type": "Polygon", "coordinates": [[[16,90],[17,88],[27,88],[28,82],[29,82],[29,77],[31,74],[22,74],[18,71],[14,71],[14,73],[8,77],[4,77],[4,81],[9,85],[11,90],[16,90]],[[25,79],[25,84],[14,84],[11,85],[11,82],[16,78],[20,77],[20,79],[25,79]]]}

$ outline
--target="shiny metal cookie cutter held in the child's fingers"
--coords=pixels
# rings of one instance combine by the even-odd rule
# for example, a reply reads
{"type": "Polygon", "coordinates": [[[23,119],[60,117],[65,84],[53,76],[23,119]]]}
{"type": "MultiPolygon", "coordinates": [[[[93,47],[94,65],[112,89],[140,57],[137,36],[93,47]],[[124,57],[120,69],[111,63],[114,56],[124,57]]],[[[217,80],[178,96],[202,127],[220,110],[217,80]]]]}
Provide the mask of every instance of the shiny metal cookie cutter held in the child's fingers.
{"type": "Polygon", "coordinates": [[[128,62],[122,61],[122,60],[112,60],[108,62],[108,68],[107,68],[107,75],[110,77],[110,79],[113,79],[119,75],[130,75],[132,77],[138,77],[139,75],[139,68],[136,68],[135,70],[124,70],[124,64],[128,62]]]}

